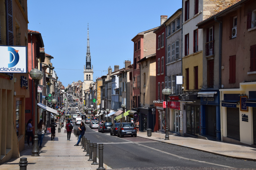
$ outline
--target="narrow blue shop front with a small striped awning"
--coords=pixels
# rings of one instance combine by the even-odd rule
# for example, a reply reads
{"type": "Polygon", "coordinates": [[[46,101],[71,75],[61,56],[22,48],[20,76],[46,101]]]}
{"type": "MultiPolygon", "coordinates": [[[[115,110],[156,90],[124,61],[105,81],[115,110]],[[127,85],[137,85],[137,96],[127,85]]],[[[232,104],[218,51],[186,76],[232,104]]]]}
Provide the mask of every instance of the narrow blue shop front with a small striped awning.
{"type": "Polygon", "coordinates": [[[220,92],[218,90],[201,90],[200,135],[221,140],[220,126],[220,92]]]}

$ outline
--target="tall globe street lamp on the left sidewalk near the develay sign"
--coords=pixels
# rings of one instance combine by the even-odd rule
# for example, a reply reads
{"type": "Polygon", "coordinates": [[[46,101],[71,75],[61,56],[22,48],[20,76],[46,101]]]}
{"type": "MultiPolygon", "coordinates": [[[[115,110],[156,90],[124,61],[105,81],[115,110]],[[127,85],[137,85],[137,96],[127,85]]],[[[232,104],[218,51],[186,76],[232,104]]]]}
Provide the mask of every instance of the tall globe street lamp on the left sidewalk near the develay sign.
{"type": "MultiPolygon", "coordinates": [[[[37,67],[35,69],[32,69],[29,72],[29,76],[34,80],[35,82],[35,135],[34,135],[34,145],[33,145],[33,149],[32,149],[32,155],[31,156],[40,156],[39,155],[39,147],[38,147],[38,135],[37,135],[37,101],[38,101],[38,92],[37,92],[37,88],[38,88],[38,83],[39,80],[41,80],[43,73],[37,69],[37,67]]],[[[33,112],[33,111],[32,111],[33,112]]]]}

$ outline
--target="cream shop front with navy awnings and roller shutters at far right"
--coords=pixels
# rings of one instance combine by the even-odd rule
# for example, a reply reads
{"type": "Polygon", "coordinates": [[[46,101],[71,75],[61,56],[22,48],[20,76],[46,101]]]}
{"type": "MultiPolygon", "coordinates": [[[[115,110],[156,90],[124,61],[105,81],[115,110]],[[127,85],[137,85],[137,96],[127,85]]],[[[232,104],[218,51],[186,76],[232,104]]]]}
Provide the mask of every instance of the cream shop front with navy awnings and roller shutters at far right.
{"type": "Polygon", "coordinates": [[[256,144],[256,82],[220,89],[222,141],[256,144]]]}

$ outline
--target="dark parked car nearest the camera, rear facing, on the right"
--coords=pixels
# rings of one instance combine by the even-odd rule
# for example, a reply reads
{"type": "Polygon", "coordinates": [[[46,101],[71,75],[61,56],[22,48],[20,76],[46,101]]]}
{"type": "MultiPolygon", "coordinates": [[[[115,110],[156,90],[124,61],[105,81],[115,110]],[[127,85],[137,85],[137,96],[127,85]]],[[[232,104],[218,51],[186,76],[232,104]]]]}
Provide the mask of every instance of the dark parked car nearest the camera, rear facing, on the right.
{"type": "Polygon", "coordinates": [[[137,131],[134,123],[120,123],[119,128],[117,129],[117,136],[123,137],[124,135],[131,135],[137,137],[137,131]]]}

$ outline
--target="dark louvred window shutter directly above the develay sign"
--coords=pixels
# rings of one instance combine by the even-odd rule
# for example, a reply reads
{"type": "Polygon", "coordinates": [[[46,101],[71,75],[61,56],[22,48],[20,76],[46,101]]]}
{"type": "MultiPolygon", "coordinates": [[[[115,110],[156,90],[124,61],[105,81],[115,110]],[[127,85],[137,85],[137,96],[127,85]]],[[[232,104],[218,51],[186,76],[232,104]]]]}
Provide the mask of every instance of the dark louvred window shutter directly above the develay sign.
{"type": "Polygon", "coordinates": [[[13,15],[12,0],[6,0],[6,40],[7,45],[13,45],[13,15]]]}

